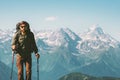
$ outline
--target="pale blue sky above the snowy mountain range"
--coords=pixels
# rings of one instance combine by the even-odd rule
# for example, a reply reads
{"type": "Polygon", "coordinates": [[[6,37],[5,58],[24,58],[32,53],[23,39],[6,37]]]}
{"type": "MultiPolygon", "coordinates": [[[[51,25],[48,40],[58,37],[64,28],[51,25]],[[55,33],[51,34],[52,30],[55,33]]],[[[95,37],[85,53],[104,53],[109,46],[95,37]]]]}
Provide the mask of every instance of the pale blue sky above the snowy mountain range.
{"type": "Polygon", "coordinates": [[[120,41],[120,0],[0,0],[0,29],[22,20],[36,30],[68,27],[76,33],[98,24],[120,41]]]}

